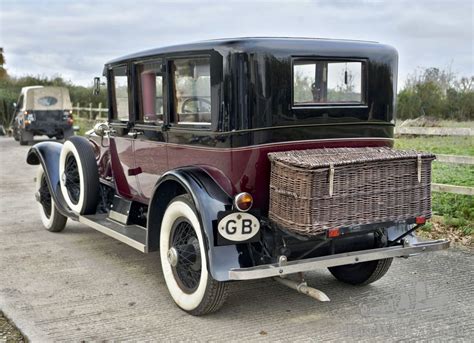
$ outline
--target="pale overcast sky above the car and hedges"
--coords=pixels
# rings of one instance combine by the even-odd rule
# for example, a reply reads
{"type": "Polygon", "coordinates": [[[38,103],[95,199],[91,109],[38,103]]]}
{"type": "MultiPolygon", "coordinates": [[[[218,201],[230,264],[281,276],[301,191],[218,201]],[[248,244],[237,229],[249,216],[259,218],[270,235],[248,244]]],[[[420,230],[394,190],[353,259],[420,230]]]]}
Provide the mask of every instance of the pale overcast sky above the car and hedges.
{"type": "Polygon", "coordinates": [[[400,89],[417,67],[474,75],[473,2],[0,0],[0,47],[11,75],[89,85],[110,59],[196,40],[374,40],[397,48],[400,89]]]}

